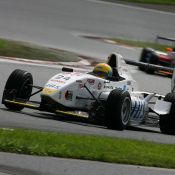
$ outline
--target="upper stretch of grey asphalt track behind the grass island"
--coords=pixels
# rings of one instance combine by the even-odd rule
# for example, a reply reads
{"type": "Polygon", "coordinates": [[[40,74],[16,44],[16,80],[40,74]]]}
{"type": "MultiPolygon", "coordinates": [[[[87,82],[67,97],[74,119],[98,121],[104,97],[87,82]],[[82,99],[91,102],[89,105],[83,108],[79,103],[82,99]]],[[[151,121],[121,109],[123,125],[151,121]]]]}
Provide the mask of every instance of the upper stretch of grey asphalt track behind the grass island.
{"type": "Polygon", "coordinates": [[[81,35],[155,40],[174,37],[174,13],[96,0],[1,0],[0,37],[68,49],[104,58],[120,52],[137,58],[139,51],[99,44],[81,35]]]}

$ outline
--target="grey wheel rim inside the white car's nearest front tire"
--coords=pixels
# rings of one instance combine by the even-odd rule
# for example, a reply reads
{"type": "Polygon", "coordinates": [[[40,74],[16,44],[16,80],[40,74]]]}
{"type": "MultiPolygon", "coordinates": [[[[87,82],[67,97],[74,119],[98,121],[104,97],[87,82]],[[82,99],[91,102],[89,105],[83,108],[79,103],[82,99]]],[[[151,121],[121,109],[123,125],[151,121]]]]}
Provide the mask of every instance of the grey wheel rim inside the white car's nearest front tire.
{"type": "Polygon", "coordinates": [[[122,109],[121,109],[121,119],[124,125],[127,125],[129,122],[130,110],[131,110],[130,106],[131,106],[130,98],[127,97],[124,99],[122,109]]]}

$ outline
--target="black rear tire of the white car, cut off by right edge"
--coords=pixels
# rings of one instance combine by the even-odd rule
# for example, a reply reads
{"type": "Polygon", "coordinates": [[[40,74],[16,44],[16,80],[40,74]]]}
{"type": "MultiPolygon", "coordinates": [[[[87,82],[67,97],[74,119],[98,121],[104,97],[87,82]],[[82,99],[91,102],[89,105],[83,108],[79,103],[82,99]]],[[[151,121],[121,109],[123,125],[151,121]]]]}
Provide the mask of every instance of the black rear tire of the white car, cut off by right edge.
{"type": "Polygon", "coordinates": [[[164,134],[175,134],[175,93],[168,93],[165,101],[172,102],[170,113],[160,116],[160,131],[164,134]]]}

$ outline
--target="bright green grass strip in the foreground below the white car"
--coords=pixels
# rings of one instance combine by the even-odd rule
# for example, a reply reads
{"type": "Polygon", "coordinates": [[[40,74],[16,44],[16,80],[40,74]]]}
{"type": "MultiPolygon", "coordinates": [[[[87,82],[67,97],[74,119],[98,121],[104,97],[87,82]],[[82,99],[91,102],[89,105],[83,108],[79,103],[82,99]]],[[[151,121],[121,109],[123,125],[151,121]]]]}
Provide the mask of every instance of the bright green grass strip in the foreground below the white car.
{"type": "Polygon", "coordinates": [[[175,145],[102,136],[0,129],[0,151],[175,168],[175,145]]]}

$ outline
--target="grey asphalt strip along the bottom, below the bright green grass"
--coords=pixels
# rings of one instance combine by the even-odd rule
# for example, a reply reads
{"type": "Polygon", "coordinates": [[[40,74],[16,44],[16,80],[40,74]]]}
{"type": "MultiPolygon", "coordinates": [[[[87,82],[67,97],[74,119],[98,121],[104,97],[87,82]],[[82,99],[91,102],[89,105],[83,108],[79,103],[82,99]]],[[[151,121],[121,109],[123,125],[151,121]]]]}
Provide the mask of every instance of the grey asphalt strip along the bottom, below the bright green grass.
{"type": "Polygon", "coordinates": [[[175,170],[96,161],[25,156],[0,152],[0,171],[8,175],[174,175],[175,170]]]}

